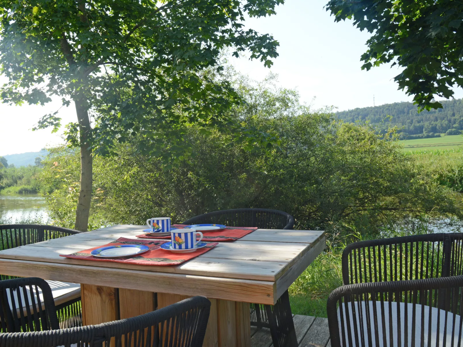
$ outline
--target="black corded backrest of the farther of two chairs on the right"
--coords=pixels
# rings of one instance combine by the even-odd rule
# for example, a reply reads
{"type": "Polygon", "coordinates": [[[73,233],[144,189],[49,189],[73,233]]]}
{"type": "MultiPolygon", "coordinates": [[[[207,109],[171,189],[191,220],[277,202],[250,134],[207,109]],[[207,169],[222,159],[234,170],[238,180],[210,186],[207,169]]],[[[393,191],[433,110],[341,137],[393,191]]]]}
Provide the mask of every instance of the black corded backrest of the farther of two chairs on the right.
{"type": "Polygon", "coordinates": [[[462,240],[462,233],[436,233],[351,243],[342,255],[343,283],[462,274],[462,240]]]}

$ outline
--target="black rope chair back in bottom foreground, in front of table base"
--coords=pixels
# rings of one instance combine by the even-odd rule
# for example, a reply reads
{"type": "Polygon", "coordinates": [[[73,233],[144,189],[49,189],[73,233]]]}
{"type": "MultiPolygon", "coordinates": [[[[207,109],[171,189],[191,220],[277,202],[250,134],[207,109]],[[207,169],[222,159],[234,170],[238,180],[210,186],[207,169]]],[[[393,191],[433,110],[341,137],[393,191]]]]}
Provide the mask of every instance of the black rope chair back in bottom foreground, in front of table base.
{"type": "Polygon", "coordinates": [[[61,330],[0,334],[0,347],[201,347],[211,302],[191,297],[120,321],[61,330]]]}

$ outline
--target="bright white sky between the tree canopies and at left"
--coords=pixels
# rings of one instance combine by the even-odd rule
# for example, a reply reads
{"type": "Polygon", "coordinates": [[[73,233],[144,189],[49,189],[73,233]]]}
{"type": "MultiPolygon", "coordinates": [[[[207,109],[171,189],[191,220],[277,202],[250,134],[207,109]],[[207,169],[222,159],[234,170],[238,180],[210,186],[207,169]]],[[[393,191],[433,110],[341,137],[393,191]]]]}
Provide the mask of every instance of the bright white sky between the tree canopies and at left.
{"type": "MultiPolygon", "coordinates": [[[[373,95],[375,105],[411,101],[394,83],[397,68],[360,69],[368,33],[351,22],[334,23],[323,8],[326,2],[286,0],[275,16],[246,21],[248,27],[272,34],[280,43],[280,56],[270,69],[279,75],[280,85],[296,88],[301,100],[314,108],[333,105],[342,111],[373,106],[373,95]]],[[[247,58],[231,58],[230,63],[253,80],[262,80],[270,71],[263,63],[247,58]]],[[[456,98],[463,97],[461,88],[455,92],[456,98]]],[[[0,104],[0,155],[35,152],[62,143],[63,129],[57,134],[48,129],[31,131],[40,117],[55,112],[60,104],[59,99],[45,106],[0,104]]],[[[76,121],[74,105],[62,108],[59,115],[62,124],[76,121]]]]}

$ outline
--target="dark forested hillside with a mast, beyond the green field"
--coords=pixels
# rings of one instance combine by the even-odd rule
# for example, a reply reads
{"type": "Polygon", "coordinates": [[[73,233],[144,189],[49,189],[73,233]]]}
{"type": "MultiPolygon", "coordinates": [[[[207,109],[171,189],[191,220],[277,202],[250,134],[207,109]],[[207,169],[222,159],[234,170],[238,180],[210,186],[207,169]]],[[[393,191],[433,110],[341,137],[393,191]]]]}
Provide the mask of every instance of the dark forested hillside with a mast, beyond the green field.
{"type": "Polygon", "coordinates": [[[338,118],[347,122],[369,121],[381,130],[388,125],[404,127],[406,135],[434,135],[434,133],[458,133],[463,130],[463,99],[442,102],[443,108],[418,113],[416,105],[411,102],[396,102],[375,107],[355,108],[349,111],[337,112],[338,118]],[[389,123],[387,116],[392,116],[389,123]]]}

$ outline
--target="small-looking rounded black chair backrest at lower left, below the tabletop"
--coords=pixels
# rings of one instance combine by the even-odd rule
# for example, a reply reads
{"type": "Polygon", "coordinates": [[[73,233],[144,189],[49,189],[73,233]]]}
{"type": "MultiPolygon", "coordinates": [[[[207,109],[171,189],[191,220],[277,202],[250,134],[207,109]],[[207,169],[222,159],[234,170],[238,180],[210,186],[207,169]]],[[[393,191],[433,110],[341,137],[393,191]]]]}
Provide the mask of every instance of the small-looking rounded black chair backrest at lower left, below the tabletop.
{"type": "Polygon", "coordinates": [[[36,277],[0,281],[0,325],[3,333],[58,329],[48,283],[36,277]]]}

